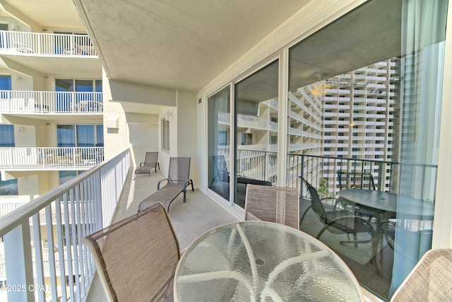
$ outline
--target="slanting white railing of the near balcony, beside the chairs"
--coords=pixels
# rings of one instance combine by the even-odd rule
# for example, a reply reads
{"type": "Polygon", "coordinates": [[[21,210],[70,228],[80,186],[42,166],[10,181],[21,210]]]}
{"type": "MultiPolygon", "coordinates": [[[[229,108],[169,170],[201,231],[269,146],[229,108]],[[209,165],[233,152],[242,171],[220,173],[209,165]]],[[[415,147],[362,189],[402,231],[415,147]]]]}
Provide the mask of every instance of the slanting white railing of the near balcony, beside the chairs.
{"type": "Polygon", "coordinates": [[[109,226],[129,168],[126,149],[0,218],[0,279],[25,289],[8,291],[8,301],[84,301],[95,264],[82,238],[109,226]],[[55,223],[41,226],[42,211],[55,223]]]}

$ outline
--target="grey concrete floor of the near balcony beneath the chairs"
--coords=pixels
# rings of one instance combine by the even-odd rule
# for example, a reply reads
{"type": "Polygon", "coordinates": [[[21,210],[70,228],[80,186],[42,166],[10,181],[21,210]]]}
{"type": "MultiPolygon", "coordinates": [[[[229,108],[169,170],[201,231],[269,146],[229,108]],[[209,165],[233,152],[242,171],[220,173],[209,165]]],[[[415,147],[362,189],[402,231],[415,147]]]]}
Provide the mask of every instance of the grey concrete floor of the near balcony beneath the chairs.
{"type": "MultiPolygon", "coordinates": [[[[113,222],[136,214],[138,204],[157,190],[157,182],[162,179],[165,179],[165,175],[160,170],[157,170],[157,173],[152,170],[150,177],[147,174],[135,176],[133,169],[129,170],[113,222]]],[[[180,194],[169,207],[169,219],[176,232],[181,250],[188,247],[190,243],[206,231],[225,223],[240,220],[239,217],[232,215],[200,190],[195,189],[194,192],[187,190],[186,202],[183,201],[183,194],[180,194]]],[[[88,291],[86,301],[107,301],[97,273],[88,291]]]]}

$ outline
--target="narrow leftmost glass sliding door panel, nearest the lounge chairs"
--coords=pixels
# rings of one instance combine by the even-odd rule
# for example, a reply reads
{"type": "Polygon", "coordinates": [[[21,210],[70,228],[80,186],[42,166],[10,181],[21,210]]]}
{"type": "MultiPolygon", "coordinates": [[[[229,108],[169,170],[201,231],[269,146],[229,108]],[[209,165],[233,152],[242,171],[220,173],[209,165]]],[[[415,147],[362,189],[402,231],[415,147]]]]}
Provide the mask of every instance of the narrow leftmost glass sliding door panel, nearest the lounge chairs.
{"type": "Polygon", "coordinates": [[[208,98],[209,188],[230,200],[230,86],[208,98]]]}

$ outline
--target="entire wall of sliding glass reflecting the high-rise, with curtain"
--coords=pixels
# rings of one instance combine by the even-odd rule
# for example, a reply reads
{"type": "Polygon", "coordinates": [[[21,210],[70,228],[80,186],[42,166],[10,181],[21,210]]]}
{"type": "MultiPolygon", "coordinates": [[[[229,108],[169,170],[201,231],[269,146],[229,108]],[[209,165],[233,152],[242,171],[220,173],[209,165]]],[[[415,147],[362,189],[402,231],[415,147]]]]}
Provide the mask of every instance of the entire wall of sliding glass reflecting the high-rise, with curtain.
{"type": "MultiPolygon", "coordinates": [[[[311,203],[300,176],[325,197],[337,197],[338,170],[362,173],[367,182],[371,176],[376,191],[396,197],[393,211],[376,207],[376,215],[366,216],[378,236],[389,234],[372,238],[382,242],[375,250],[372,241],[350,245],[340,243],[338,234],[321,237],[363,286],[385,299],[432,246],[447,6],[448,1],[366,1],[280,52],[288,62],[286,67],[281,60],[283,70],[273,62],[208,98],[209,187],[225,192],[228,201],[243,207],[246,184],[240,178],[253,178],[298,187],[306,200],[303,213],[311,203]],[[278,100],[278,89],[287,93],[285,100],[278,100]],[[220,97],[229,91],[233,100],[220,97]],[[234,139],[232,152],[230,144],[222,150],[225,131],[234,139]],[[286,161],[276,160],[277,150],[287,151],[286,161]],[[222,165],[212,160],[220,154],[222,165]],[[284,178],[276,173],[283,168],[284,178]],[[219,170],[226,176],[219,178],[219,170]],[[413,208],[419,208],[414,215],[413,208]]],[[[286,156],[281,153],[278,159],[286,156]]],[[[327,210],[334,205],[325,204],[327,210]]],[[[337,209],[362,213],[350,204],[337,209]]],[[[322,226],[313,209],[304,219],[302,230],[316,236],[322,226]]]]}

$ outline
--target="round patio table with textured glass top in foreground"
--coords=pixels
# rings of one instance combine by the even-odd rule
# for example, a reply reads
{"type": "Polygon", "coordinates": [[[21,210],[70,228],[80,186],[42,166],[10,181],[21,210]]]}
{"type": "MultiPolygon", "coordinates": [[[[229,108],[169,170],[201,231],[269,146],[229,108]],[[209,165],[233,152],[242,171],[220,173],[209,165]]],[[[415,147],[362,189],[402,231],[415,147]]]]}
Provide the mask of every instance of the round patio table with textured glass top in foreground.
{"type": "Polygon", "coordinates": [[[330,248],[278,223],[243,221],[204,233],[183,253],[175,301],[364,301],[330,248]]]}

